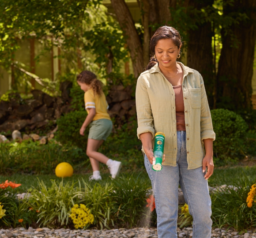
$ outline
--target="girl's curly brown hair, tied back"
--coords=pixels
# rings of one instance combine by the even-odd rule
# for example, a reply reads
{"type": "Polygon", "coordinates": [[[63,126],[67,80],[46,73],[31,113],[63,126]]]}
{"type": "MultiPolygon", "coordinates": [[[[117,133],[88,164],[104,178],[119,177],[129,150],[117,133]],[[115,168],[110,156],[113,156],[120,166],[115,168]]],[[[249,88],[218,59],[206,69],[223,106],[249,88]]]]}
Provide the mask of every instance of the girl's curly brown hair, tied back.
{"type": "Polygon", "coordinates": [[[77,75],[76,80],[90,85],[94,94],[98,94],[99,96],[102,94],[102,82],[97,79],[97,76],[93,72],[84,70],[77,75]]]}

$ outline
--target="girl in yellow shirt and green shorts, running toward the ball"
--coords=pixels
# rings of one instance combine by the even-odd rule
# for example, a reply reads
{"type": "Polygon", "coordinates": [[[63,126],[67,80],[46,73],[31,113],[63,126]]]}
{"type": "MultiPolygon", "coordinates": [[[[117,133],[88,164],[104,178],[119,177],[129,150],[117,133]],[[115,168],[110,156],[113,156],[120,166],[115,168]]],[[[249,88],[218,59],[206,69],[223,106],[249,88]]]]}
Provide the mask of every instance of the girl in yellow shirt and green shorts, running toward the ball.
{"type": "Polygon", "coordinates": [[[84,93],[85,109],[88,113],[80,134],[84,136],[86,127],[90,124],[87,143],[87,156],[93,169],[93,175],[89,180],[101,180],[99,162],[106,164],[112,178],[116,178],[120,171],[121,162],[111,160],[100,152],[97,152],[102,143],[107,139],[112,131],[113,124],[107,112],[109,108],[105,95],[102,92],[101,82],[96,75],[90,71],[83,71],[77,76],[77,83],[84,93]]]}

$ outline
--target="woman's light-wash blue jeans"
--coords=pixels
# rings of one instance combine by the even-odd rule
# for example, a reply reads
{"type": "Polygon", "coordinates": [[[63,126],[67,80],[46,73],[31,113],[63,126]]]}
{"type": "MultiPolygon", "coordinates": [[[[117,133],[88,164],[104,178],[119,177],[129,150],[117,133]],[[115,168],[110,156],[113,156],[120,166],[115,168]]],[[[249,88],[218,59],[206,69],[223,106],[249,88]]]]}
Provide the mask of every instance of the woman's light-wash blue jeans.
{"type": "Polygon", "coordinates": [[[202,167],[188,169],[185,131],[177,131],[177,149],[177,166],[163,166],[161,171],[154,171],[145,155],[145,167],[155,197],[158,238],[177,237],[179,184],[193,216],[193,238],[211,238],[208,183],[202,167]]]}

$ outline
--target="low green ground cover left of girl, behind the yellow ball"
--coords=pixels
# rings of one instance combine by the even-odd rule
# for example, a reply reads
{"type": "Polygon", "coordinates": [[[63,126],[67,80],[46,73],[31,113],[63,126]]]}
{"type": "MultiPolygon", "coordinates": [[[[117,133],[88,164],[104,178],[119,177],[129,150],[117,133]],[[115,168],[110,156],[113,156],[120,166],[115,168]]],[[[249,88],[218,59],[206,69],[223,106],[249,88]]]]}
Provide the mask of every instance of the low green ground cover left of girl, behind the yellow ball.
{"type": "Polygon", "coordinates": [[[61,146],[56,141],[49,141],[46,145],[30,140],[22,143],[0,143],[0,173],[3,175],[17,172],[52,174],[56,165],[61,162],[81,165],[82,161],[86,163],[85,158],[87,157],[82,149],[61,146]]]}

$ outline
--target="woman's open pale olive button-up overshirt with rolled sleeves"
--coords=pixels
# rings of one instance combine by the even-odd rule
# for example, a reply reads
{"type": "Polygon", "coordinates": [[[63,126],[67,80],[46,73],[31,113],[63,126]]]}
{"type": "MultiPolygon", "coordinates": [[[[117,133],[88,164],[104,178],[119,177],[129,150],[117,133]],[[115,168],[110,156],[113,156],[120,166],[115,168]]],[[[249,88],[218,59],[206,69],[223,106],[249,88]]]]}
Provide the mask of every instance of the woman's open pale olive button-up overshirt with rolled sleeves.
{"type": "MultiPolygon", "coordinates": [[[[188,169],[202,166],[204,157],[203,140],[215,140],[211,112],[201,74],[177,62],[183,69],[182,91],[187,134],[188,169]]],[[[150,132],[165,134],[166,155],[163,165],[176,166],[177,125],[175,93],[173,86],[164,77],[158,64],[140,74],[136,86],[136,110],[138,117],[137,135],[150,132]]],[[[142,149],[144,152],[144,150],[142,149]]]]}

